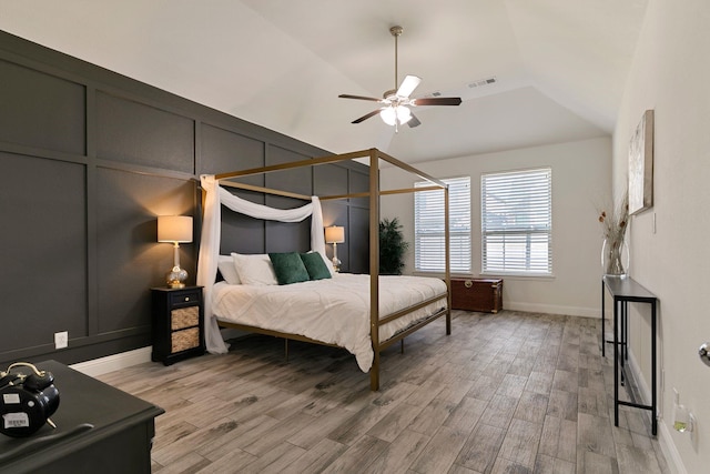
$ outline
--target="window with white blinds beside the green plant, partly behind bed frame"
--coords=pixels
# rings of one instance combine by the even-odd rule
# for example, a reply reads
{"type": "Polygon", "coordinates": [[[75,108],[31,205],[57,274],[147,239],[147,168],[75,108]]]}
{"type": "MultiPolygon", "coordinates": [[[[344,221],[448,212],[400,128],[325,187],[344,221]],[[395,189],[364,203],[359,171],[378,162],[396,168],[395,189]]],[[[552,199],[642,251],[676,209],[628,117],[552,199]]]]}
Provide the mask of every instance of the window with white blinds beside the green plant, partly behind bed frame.
{"type": "MultiPolygon", "coordinates": [[[[448,184],[452,272],[470,271],[470,178],[443,180],[448,184]]],[[[415,188],[429,182],[415,183],[415,188]]],[[[414,193],[414,266],[423,272],[445,270],[444,190],[414,193]]]]}

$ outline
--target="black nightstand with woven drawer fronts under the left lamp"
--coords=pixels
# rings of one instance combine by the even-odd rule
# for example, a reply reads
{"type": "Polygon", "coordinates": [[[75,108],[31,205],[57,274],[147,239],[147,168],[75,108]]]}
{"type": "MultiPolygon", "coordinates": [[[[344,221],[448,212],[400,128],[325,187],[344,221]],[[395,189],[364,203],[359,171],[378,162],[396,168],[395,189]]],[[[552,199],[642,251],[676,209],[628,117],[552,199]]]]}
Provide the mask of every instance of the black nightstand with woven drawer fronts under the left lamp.
{"type": "Polygon", "coordinates": [[[204,354],[202,286],[154,288],[152,360],[173,362],[204,354]]]}

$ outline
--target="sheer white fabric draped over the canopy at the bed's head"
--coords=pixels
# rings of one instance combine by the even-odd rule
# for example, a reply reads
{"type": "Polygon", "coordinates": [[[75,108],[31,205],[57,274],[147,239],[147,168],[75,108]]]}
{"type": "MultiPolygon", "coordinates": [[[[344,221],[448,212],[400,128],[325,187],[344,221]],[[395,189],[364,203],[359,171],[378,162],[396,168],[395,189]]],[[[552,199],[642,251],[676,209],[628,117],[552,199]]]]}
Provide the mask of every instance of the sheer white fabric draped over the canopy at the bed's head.
{"type": "Polygon", "coordinates": [[[235,196],[219,185],[214,175],[200,177],[205,192],[204,216],[202,220],[202,239],[197,260],[197,284],[204,286],[204,333],[207,351],[224,354],[229,346],[220,334],[220,327],[212,313],[212,288],[217,275],[220,255],[220,238],[222,229],[222,205],[234,212],[280,222],[301,222],[311,216],[311,250],[325,256],[325,236],[323,230],[323,211],[321,200],[311,198],[311,203],[296,209],[274,209],[256,204],[235,196]]]}

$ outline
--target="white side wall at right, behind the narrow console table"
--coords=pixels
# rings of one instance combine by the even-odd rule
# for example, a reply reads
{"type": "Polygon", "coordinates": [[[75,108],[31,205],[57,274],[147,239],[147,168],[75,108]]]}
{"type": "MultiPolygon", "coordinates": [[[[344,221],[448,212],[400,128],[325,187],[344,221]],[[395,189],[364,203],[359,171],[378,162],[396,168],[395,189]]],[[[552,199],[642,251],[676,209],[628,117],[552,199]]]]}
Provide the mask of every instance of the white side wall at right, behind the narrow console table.
{"type": "MultiPolygon", "coordinates": [[[[689,473],[710,466],[710,367],[698,357],[710,341],[709,57],[708,0],[650,0],[613,137],[613,178],[622,183],[629,137],[655,110],[653,208],[631,220],[631,275],[660,300],[660,434],[689,473]],[[692,437],[672,430],[672,387],[696,414],[692,437]]],[[[648,311],[635,307],[632,352],[647,384],[649,324],[648,311]]]]}

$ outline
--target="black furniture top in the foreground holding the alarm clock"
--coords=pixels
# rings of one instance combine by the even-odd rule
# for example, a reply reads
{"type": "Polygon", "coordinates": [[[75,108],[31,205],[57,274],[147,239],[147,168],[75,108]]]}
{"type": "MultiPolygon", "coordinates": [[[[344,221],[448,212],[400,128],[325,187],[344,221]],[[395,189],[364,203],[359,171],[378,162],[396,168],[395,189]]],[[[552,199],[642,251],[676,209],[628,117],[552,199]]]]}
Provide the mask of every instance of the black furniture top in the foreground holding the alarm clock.
{"type": "Polygon", "coordinates": [[[54,361],[38,369],[54,375],[59,409],[28,437],[0,434],[0,472],[151,472],[154,417],[163,410],[54,361]]]}

